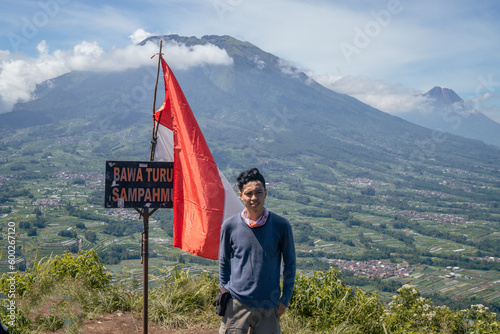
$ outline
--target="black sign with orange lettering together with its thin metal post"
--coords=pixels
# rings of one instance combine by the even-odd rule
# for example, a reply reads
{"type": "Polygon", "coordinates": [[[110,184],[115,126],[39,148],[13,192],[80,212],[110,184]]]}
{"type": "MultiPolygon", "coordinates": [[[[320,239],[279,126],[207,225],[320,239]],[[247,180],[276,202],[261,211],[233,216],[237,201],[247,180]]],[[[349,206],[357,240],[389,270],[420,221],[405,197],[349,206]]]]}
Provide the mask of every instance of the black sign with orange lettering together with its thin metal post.
{"type": "Polygon", "coordinates": [[[159,208],[173,207],[173,178],[173,162],[106,161],[104,207],[134,208],[143,218],[141,263],[144,334],[148,333],[149,217],[159,208]]]}

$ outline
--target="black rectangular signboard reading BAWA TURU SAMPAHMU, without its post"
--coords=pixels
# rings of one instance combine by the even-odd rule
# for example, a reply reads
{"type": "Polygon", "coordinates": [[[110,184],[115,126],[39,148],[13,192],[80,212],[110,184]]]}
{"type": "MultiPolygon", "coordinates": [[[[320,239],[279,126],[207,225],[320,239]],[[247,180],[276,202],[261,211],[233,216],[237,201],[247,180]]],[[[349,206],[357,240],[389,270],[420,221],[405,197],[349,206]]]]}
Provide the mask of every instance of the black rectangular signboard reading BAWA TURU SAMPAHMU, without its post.
{"type": "Polygon", "coordinates": [[[174,163],[106,161],[106,208],[172,208],[174,163]]]}

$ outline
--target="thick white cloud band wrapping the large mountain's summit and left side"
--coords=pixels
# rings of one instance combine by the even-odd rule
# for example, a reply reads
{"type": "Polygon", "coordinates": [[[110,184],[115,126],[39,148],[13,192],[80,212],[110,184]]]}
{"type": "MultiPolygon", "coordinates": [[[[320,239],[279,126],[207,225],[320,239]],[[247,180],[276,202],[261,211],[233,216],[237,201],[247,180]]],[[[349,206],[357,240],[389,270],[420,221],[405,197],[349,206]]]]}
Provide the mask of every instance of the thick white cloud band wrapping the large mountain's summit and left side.
{"type": "MultiPolygon", "coordinates": [[[[147,33],[139,29],[131,36],[147,33]],[[139,31],[140,30],[140,31],[139,31]]],[[[151,56],[158,52],[154,43],[127,45],[106,52],[96,41],[82,41],[72,50],[49,52],[45,41],[37,46],[37,58],[14,58],[8,51],[0,52],[0,113],[9,112],[16,102],[33,98],[36,85],[71,71],[123,71],[140,66],[154,66],[151,56]]],[[[187,47],[168,43],[162,52],[172,68],[188,69],[203,64],[231,65],[232,58],[214,45],[187,47]]]]}

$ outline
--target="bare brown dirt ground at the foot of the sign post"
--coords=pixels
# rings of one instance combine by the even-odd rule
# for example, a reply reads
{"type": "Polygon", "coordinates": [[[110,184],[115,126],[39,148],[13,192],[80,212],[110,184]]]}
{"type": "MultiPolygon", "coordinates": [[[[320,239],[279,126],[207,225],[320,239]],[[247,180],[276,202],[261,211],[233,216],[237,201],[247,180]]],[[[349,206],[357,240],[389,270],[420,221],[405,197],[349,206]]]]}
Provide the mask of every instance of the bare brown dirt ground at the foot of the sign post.
{"type": "MultiPolygon", "coordinates": [[[[142,320],[134,318],[130,312],[115,312],[104,314],[94,320],[85,320],[83,333],[96,334],[142,334],[142,320]]],[[[54,332],[52,332],[53,334],[54,332]]],[[[63,331],[55,332],[57,334],[63,331]]],[[[218,330],[190,328],[190,329],[166,329],[154,325],[148,326],[148,334],[217,334],[218,330]]]]}

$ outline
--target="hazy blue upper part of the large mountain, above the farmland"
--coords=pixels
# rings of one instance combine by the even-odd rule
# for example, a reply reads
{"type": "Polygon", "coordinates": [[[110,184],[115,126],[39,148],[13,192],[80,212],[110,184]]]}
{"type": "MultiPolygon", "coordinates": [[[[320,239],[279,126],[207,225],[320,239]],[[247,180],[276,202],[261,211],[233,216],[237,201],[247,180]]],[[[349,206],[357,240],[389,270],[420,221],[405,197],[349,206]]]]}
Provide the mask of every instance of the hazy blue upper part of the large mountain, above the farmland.
{"type": "MultiPolygon", "coordinates": [[[[198,39],[178,35],[153,36],[146,41],[158,43],[160,39],[187,46],[211,43],[233,58],[232,66],[175,72],[214,155],[223,164],[247,166],[262,159],[257,156],[268,155],[281,160],[298,156],[305,161],[322,159],[326,165],[346,160],[370,168],[392,163],[404,169],[415,156],[419,163],[424,157],[445,165],[457,159],[477,161],[483,154],[495,160],[498,156],[485,145],[459,137],[436,142],[431,130],[333,92],[250,43],[229,36],[198,39]],[[422,142],[430,142],[433,149],[422,150],[418,147],[422,142]],[[227,148],[247,151],[229,157],[227,148]],[[450,155],[454,159],[448,159],[450,155]]],[[[137,122],[147,126],[154,80],[149,80],[149,87],[143,82],[154,73],[151,68],[68,73],[40,85],[36,100],[18,103],[11,114],[0,115],[0,126],[32,125],[19,122],[14,115],[46,124],[85,118],[90,119],[90,128],[97,126],[102,131],[137,122]],[[138,88],[147,92],[141,99],[134,98],[138,88]]]]}

